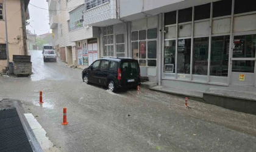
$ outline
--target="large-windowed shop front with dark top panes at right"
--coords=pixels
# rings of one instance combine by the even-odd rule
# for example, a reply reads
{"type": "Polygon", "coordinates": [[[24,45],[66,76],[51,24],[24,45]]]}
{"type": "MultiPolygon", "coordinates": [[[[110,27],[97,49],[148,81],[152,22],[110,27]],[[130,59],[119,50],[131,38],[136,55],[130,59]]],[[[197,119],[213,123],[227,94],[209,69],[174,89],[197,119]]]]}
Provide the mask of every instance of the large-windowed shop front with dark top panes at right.
{"type": "Polygon", "coordinates": [[[238,85],[255,89],[254,1],[216,1],[167,12],[163,24],[164,86],[192,89],[197,84],[194,89],[205,90],[238,85]]]}

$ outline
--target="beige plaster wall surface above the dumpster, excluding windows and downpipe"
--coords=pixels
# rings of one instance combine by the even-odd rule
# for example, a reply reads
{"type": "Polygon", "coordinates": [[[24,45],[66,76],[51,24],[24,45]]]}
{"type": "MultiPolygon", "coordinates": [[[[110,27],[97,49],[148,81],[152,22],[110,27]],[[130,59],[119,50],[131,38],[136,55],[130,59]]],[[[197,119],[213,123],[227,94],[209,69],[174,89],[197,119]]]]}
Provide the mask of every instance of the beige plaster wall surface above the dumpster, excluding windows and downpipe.
{"type": "MultiPolygon", "coordinates": [[[[0,3],[4,3],[0,0],[0,3]]],[[[6,1],[7,7],[7,30],[9,41],[9,58],[12,62],[12,55],[24,55],[23,32],[21,22],[21,2],[20,0],[6,1]]],[[[4,18],[5,19],[5,18],[4,18]]],[[[0,44],[5,42],[5,21],[0,20],[0,44]]],[[[7,66],[7,60],[0,60],[0,72],[7,66]]]]}

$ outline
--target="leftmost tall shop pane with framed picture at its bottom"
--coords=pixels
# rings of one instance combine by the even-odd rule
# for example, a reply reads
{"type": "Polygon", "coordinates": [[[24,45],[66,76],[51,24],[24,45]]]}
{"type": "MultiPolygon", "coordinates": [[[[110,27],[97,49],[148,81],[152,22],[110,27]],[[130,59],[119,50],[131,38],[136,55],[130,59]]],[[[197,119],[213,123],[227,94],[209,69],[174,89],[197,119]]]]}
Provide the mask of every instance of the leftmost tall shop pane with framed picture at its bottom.
{"type": "Polygon", "coordinates": [[[165,41],[164,71],[175,73],[176,40],[165,41]]]}

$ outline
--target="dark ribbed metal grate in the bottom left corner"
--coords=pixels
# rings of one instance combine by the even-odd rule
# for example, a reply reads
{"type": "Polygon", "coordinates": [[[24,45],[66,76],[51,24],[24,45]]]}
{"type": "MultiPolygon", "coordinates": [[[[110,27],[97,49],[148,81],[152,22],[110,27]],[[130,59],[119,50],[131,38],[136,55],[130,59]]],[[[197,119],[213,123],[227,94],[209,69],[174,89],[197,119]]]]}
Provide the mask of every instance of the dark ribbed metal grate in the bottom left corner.
{"type": "Polygon", "coordinates": [[[0,111],[0,151],[32,151],[16,109],[0,111]]]}

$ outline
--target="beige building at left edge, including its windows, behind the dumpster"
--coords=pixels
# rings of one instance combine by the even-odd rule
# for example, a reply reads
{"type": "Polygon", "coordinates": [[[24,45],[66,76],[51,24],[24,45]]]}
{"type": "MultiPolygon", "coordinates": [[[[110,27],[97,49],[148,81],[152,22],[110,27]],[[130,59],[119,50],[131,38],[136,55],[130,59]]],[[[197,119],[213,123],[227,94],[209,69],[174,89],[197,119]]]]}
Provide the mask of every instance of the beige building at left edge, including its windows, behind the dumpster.
{"type": "Polygon", "coordinates": [[[7,21],[9,61],[12,62],[13,55],[27,55],[26,19],[29,19],[28,4],[29,0],[6,1],[6,18],[4,18],[4,1],[0,0],[0,72],[7,67],[5,21],[7,21]]]}

